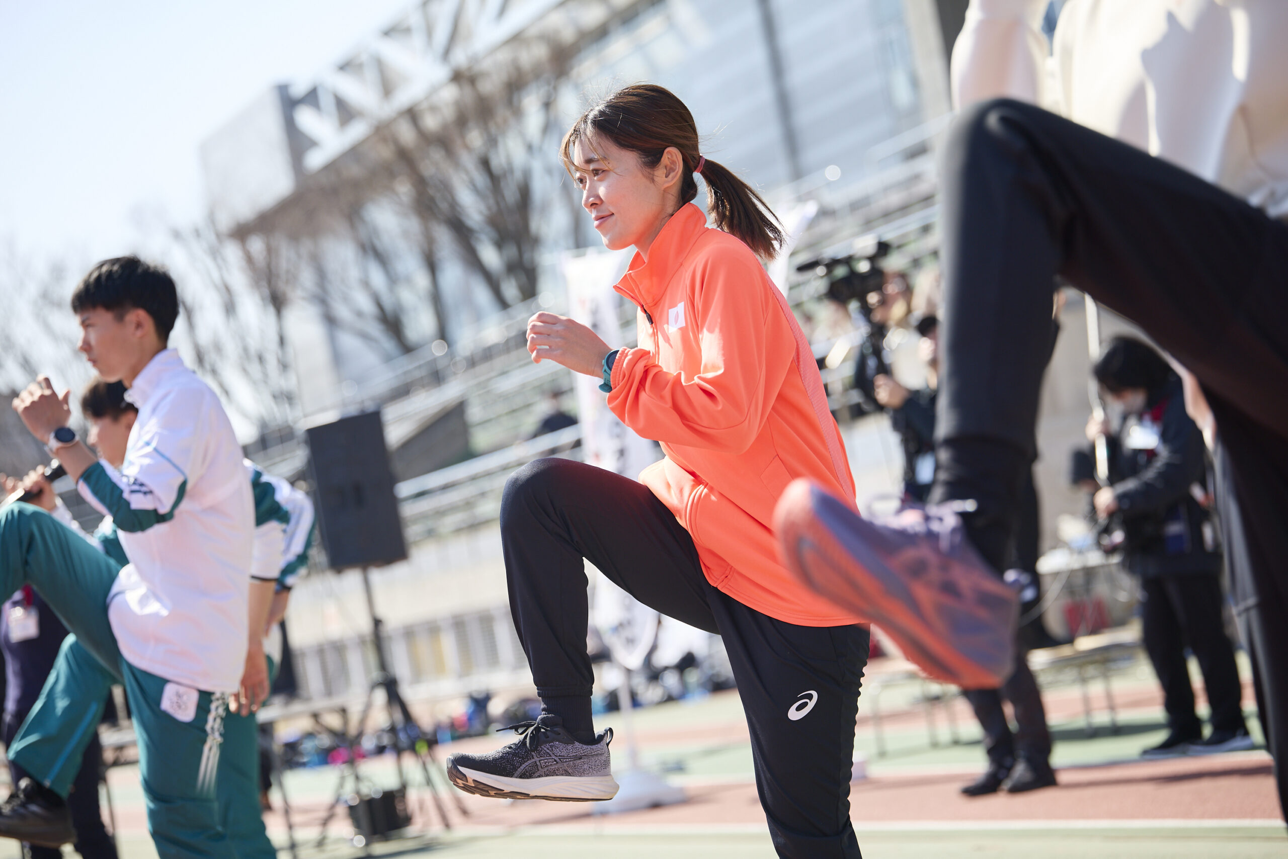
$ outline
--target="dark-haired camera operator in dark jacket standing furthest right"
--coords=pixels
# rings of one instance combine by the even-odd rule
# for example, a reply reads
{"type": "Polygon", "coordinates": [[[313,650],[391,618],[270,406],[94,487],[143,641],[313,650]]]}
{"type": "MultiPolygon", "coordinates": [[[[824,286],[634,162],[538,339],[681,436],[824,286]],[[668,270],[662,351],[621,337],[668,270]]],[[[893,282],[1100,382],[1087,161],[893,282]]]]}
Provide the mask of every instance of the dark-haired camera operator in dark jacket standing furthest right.
{"type": "Polygon", "coordinates": [[[1181,379],[1153,348],[1114,337],[1094,368],[1106,399],[1124,413],[1110,433],[1104,420],[1087,424],[1087,438],[1104,434],[1110,484],[1092,496],[1095,515],[1121,529],[1123,560],[1141,580],[1145,649],[1163,686],[1167,738],[1145,757],[1252,748],[1243,721],[1242,686],[1221,607],[1221,555],[1212,545],[1206,495],[1203,437],[1189,415],[1181,379]],[[1203,670],[1212,733],[1194,712],[1185,659],[1189,647],[1203,670]]]}

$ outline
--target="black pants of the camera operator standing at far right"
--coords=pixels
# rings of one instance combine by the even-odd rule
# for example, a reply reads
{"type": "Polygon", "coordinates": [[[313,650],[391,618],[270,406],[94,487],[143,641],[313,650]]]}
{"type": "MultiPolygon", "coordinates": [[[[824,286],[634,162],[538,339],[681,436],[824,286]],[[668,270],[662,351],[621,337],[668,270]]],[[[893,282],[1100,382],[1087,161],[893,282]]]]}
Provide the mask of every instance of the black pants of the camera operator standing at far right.
{"type": "Polygon", "coordinates": [[[1244,730],[1243,685],[1234,662],[1234,645],[1225,635],[1221,580],[1215,574],[1146,578],[1142,591],[1145,652],[1163,686],[1167,726],[1181,734],[1203,730],[1194,712],[1194,686],[1185,661],[1189,647],[1203,670],[1212,730],[1244,730]]]}

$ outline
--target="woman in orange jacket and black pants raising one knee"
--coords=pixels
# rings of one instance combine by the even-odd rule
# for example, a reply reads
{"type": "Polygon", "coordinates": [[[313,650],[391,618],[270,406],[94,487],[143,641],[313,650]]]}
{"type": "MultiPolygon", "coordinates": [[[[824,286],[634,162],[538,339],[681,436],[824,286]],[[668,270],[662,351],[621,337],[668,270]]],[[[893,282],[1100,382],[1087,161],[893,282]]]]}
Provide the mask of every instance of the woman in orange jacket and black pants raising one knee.
{"type": "Polygon", "coordinates": [[[868,628],[779,563],[779,495],[808,477],[854,497],[809,344],[761,267],[782,243],[764,201],[698,149],[661,86],[629,86],[564,137],[564,165],[612,250],[639,345],[609,350],[553,313],[528,322],[533,361],[603,376],[608,406],[666,458],[639,482],[571,460],[510,478],[501,541],[510,610],[544,704],[491,755],[455,755],[483,796],[608,800],[612,733],[595,734],[583,560],[658,612],[724,637],[747,713],[756,787],[781,856],[859,856],[849,817],[868,628]],[[707,184],[707,215],[692,203],[707,184]]]}

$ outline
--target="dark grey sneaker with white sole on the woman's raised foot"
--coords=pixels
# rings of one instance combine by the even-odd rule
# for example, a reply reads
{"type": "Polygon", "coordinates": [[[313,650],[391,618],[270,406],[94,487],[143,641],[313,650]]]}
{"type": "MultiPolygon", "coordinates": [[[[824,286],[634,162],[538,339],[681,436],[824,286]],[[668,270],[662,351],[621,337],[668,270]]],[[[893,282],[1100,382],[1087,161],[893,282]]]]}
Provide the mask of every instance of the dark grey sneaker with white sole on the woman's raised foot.
{"type": "Polygon", "coordinates": [[[514,730],[519,739],[491,755],[447,759],[452,784],[466,793],[515,800],[596,802],[617,795],[608,756],[612,728],[590,746],[578,743],[551,713],[501,730],[514,730]]]}

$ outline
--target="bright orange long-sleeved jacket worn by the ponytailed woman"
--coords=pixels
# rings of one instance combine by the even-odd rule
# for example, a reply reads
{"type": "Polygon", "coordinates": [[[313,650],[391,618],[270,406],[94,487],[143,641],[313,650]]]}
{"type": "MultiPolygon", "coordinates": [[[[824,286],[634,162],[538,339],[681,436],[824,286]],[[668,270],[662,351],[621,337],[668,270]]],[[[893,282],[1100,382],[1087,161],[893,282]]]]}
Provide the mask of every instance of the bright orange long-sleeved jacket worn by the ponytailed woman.
{"type": "Polygon", "coordinates": [[[688,203],[617,291],[640,308],[639,346],[617,354],[608,407],[661,442],[640,482],[688,529],[707,581],[788,623],[858,623],[778,560],[787,484],[854,498],[854,479],[805,335],[755,254],[688,203]]]}

